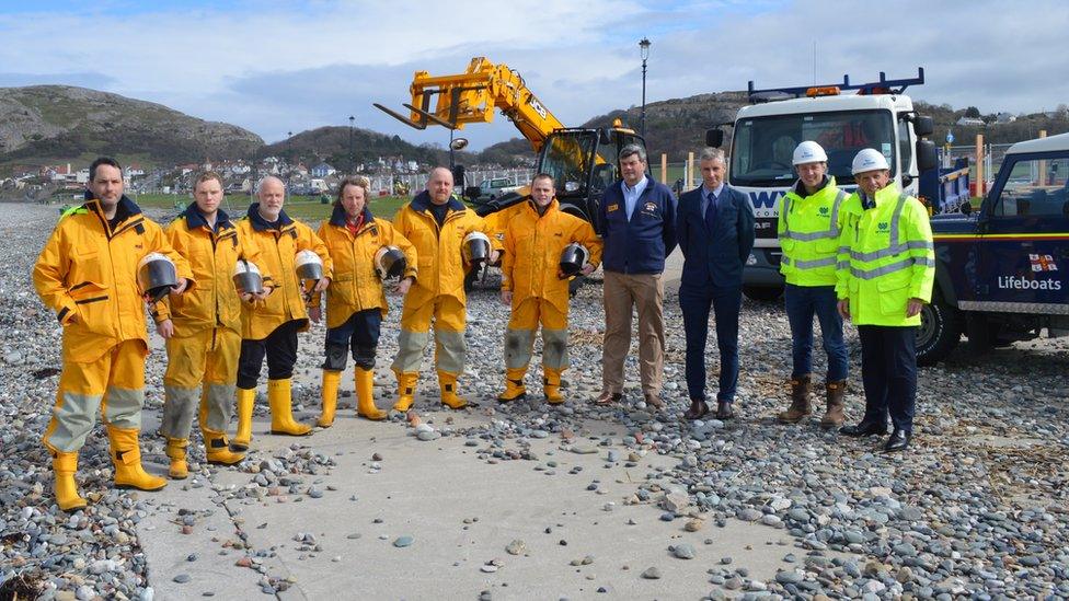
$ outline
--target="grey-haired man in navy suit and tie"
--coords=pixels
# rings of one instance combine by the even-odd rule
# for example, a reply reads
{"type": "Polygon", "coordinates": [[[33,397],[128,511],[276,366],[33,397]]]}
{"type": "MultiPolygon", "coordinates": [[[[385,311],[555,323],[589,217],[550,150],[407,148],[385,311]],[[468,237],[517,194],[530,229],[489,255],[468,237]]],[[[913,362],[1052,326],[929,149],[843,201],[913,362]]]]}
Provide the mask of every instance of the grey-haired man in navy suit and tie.
{"type": "Polygon", "coordinates": [[[754,209],[746,195],[724,184],[724,151],[701,152],[702,185],[679,197],[676,235],[683,252],[679,307],[687,333],[687,390],[690,408],[685,417],[709,413],[705,403],[705,342],[709,311],[716,321],[720,348],[720,390],[716,418],[735,416],[732,404],[738,383],[738,313],[743,307],[743,265],[754,247],[754,209]]]}

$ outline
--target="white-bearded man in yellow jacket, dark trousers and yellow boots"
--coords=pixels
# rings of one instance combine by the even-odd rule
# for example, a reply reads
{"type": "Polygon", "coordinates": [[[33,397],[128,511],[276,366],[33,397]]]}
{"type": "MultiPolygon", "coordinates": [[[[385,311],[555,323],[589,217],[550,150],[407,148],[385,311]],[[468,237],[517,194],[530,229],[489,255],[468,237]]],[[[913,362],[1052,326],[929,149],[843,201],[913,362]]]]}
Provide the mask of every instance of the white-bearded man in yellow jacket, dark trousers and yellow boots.
{"type": "Polygon", "coordinates": [[[312,251],[323,262],[323,277],[312,292],[322,292],[331,281],[331,256],[323,241],[304,223],[290,219],[283,210],[286,186],[277,177],[265,177],[257,192],[258,203],[249,207],[238,224],[242,242],[256,249],[262,265],[271,274],[272,291],[263,303],[241,307],[241,355],[238,358],[238,431],[232,447],[244,451],[252,440],[252,411],[256,380],[267,358],[267,404],[271,406],[271,434],[304,436],[311,426],[294,420],[292,377],[297,362],[297,334],[308,330],[308,309],[295,258],[312,251]]]}

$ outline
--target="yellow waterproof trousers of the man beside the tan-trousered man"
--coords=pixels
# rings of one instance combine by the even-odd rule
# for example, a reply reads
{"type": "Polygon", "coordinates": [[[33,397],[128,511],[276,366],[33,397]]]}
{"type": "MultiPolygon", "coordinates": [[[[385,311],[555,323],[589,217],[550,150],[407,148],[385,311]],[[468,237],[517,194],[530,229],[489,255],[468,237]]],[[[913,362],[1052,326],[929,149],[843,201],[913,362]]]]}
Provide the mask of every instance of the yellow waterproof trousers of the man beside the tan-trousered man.
{"type": "Polygon", "coordinates": [[[506,368],[527,369],[539,324],[542,326],[542,367],[567,369],[567,313],[538,297],[528,297],[513,305],[513,316],[505,332],[506,368]]]}

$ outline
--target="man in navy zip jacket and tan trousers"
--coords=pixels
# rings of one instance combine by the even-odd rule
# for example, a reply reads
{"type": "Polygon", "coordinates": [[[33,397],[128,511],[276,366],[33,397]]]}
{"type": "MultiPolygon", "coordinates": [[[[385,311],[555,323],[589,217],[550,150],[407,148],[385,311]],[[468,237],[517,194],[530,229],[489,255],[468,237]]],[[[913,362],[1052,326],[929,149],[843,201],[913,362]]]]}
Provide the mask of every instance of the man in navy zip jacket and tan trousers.
{"type": "Polygon", "coordinates": [[[646,151],[620,150],[623,180],[605,190],[598,209],[605,239],[605,343],[599,405],[623,396],[623,360],[631,349],[631,310],[639,312],[639,372],[647,405],[664,407],[665,257],[676,247],[676,198],[668,186],[646,176],[646,151]]]}

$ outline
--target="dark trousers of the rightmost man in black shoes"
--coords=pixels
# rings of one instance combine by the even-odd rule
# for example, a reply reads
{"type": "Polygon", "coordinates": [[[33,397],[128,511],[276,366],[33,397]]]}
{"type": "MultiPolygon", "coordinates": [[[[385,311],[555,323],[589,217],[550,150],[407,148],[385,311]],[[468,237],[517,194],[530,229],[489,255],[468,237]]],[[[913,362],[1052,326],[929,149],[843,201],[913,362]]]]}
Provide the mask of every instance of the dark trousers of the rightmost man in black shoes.
{"type": "Polygon", "coordinates": [[[917,402],[917,328],[859,325],[865,421],[887,423],[912,432],[917,402]]]}

